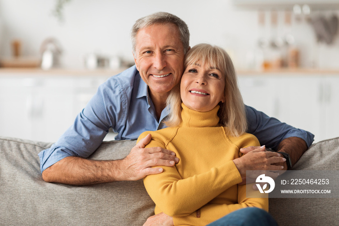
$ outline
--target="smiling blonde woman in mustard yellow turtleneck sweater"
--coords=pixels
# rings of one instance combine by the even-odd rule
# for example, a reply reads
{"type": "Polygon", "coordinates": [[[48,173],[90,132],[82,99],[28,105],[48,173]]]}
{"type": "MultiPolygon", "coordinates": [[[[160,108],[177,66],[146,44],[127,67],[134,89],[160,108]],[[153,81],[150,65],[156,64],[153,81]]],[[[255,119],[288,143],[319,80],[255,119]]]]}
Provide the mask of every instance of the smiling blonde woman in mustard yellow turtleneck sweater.
{"type": "Polygon", "coordinates": [[[245,106],[226,51],[208,44],[191,48],[168,106],[170,127],[139,137],[151,133],[146,147],[169,149],[180,159],[144,178],[155,214],[171,216],[174,225],[198,226],[245,207],[267,211],[267,198],[249,198],[246,185],[238,185],[242,178],[233,161],[241,156],[240,148],[259,141],[245,133],[245,106]]]}

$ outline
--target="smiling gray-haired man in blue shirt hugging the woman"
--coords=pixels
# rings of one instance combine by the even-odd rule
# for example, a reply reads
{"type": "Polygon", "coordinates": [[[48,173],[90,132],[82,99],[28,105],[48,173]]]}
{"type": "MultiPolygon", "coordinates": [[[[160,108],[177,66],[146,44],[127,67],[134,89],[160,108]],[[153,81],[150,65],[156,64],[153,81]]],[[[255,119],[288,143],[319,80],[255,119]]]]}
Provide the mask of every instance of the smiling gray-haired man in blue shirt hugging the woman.
{"type": "MultiPolygon", "coordinates": [[[[144,148],[146,136],[123,160],[87,160],[113,128],[116,140],[137,139],[146,130],[165,128],[166,99],[180,81],[189,49],[187,25],[177,16],[156,13],[140,18],[132,29],[135,66],[102,84],[75,123],[49,149],[39,153],[43,179],[65,184],[92,184],[115,180],[138,180],[162,172],[161,167],[179,161],[170,150],[144,148]]],[[[290,155],[292,164],[313,142],[313,135],[280,123],[247,107],[248,132],[261,144],[290,155]]],[[[236,166],[246,170],[287,169],[284,158],[264,147],[249,147],[236,166]]],[[[114,151],[114,150],[112,150],[114,151]]],[[[285,156],[284,156],[285,157],[285,156]]],[[[287,157],[285,157],[287,158],[287,157]]]]}

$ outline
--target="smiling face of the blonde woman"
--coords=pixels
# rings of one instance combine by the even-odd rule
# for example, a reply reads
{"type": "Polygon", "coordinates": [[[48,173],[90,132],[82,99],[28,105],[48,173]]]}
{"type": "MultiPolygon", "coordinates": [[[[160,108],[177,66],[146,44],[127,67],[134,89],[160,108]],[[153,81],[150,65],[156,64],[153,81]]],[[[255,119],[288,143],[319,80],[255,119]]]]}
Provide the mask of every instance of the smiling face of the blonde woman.
{"type": "Polygon", "coordinates": [[[192,110],[208,112],[222,101],[224,96],[225,76],[217,67],[208,67],[199,62],[188,65],[180,84],[183,103],[192,110]]]}

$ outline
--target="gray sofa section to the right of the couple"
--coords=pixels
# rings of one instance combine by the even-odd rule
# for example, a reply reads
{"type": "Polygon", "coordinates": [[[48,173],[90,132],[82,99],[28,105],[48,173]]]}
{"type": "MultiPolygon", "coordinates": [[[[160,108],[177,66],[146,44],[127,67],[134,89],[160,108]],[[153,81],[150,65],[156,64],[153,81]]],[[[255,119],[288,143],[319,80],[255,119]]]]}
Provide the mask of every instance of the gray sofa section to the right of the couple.
{"type": "MultiPolygon", "coordinates": [[[[339,137],[311,145],[292,170],[338,170],[339,137]]],[[[270,198],[279,226],[338,225],[337,198],[270,198]]]]}

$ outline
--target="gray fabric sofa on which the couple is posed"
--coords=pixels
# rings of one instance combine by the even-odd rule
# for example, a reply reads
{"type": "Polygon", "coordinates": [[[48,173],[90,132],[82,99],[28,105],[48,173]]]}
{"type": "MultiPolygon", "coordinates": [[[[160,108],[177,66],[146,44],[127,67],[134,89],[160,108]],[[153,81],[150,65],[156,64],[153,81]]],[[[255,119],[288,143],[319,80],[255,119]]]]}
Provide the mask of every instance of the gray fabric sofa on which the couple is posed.
{"type": "MultiPolygon", "coordinates": [[[[142,180],[90,186],[43,181],[38,153],[50,143],[0,137],[0,225],[142,226],[154,203],[142,180]]],[[[135,141],[104,142],[91,159],[122,159],[135,141]]],[[[339,138],[313,144],[294,170],[338,170],[339,138]]],[[[280,226],[339,225],[336,198],[271,198],[280,226]]]]}

